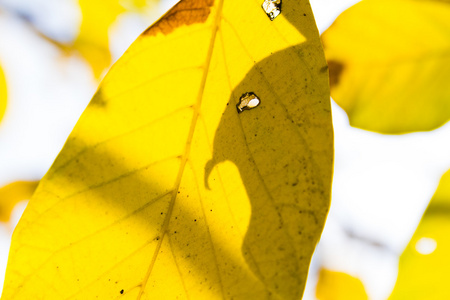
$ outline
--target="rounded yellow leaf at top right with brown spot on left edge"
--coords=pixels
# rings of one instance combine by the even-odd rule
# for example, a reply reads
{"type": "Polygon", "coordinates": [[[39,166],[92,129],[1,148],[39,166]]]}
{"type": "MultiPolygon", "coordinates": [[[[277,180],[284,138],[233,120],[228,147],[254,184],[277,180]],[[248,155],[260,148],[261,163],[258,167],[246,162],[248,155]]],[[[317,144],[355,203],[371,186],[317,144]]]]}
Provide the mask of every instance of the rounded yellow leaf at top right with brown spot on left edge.
{"type": "Polygon", "coordinates": [[[365,0],[322,35],[331,96],[350,124],[382,133],[450,119],[450,4],[365,0]]]}

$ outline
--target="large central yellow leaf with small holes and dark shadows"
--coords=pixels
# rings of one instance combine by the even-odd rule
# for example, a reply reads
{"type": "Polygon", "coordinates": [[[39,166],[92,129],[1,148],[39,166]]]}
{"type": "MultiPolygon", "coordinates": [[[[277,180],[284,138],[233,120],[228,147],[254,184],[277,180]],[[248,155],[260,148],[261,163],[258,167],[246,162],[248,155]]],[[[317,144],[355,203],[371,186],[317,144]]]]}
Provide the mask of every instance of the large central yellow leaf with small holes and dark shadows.
{"type": "Polygon", "coordinates": [[[3,300],[301,297],[333,132],[309,3],[282,9],[183,0],[136,40],[19,222],[3,300]]]}

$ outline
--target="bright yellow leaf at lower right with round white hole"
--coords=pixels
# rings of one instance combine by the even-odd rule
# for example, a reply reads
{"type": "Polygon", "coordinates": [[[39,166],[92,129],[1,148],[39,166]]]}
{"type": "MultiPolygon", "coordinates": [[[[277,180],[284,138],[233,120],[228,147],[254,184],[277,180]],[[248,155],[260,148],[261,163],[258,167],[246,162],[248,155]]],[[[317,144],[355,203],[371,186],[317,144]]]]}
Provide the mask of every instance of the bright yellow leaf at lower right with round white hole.
{"type": "Polygon", "coordinates": [[[444,174],[411,241],[400,257],[390,300],[450,299],[450,171],[444,174]]]}

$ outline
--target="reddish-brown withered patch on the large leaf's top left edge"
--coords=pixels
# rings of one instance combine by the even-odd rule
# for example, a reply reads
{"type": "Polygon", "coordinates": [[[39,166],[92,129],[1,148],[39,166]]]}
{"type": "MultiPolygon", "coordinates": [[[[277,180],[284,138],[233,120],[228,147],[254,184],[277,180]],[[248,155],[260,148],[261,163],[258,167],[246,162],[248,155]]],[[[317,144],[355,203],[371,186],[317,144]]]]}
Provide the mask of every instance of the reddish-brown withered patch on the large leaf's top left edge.
{"type": "Polygon", "coordinates": [[[143,34],[153,36],[161,32],[167,35],[182,25],[204,23],[213,5],[214,0],[183,0],[172,7],[143,34]]]}

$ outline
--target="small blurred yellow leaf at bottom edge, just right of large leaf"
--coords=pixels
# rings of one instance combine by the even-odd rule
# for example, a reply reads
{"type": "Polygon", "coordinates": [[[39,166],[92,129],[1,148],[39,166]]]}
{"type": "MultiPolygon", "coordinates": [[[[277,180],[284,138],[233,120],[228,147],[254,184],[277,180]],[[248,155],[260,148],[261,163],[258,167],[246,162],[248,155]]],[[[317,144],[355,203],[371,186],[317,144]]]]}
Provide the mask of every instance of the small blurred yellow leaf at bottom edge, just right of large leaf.
{"type": "Polygon", "coordinates": [[[321,269],[316,286],[318,300],[368,299],[361,280],[342,272],[321,269]]]}

